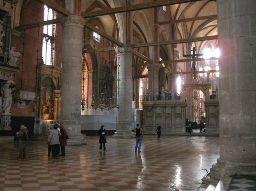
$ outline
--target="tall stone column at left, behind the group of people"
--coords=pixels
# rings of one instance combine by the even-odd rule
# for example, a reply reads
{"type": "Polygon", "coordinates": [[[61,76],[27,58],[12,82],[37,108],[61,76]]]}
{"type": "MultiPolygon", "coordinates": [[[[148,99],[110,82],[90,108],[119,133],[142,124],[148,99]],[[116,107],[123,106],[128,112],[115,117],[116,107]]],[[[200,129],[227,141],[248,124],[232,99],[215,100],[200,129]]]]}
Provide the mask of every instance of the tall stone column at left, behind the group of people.
{"type": "Polygon", "coordinates": [[[84,19],[68,16],[63,18],[62,26],[60,124],[67,130],[68,145],[81,145],[85,144],[80,124],[84,19]]]}

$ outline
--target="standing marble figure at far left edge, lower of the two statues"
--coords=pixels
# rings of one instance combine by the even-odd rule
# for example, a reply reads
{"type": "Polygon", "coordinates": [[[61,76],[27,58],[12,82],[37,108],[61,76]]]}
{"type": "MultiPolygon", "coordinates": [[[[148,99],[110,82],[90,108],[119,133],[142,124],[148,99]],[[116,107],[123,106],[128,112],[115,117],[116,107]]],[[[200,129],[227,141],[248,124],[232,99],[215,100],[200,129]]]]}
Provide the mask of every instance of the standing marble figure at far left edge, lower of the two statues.
{"type": "Polygon", "coordinates": [[[14,91],[15,84],[12,81],[4,82],[2,87],[3,90],[3,105],[2,105],[2,113],[10,114],[10,108],[12,105],[12,92],[14,91]]]}

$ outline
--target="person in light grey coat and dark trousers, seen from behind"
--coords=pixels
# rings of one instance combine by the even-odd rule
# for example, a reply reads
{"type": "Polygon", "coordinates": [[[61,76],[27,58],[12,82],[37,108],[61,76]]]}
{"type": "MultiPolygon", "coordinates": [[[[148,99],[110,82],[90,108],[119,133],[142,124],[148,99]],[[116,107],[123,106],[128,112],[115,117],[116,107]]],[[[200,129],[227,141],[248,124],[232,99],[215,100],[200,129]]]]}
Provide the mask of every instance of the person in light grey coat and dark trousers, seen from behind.
{"type": "Polygon", "coordinates": [[[60,148],[60,136],[61,134],[58,131],[58,125],[55,124],[54,129],[51,131],[48,137],[48,143],[51,145],[53,158],[57,157],[57,150],[60,148]]]}

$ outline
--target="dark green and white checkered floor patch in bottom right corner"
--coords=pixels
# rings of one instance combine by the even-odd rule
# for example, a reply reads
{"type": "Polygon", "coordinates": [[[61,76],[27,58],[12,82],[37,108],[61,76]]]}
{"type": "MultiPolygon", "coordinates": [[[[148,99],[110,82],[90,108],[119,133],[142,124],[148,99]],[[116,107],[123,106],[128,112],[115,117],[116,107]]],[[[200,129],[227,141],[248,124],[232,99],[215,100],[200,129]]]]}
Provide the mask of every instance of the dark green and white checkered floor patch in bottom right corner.
{"type": "Polygon", "coordinates": [[[228,191],[256,191],[256,177],[235,176],[232,178],[228,191]]]}

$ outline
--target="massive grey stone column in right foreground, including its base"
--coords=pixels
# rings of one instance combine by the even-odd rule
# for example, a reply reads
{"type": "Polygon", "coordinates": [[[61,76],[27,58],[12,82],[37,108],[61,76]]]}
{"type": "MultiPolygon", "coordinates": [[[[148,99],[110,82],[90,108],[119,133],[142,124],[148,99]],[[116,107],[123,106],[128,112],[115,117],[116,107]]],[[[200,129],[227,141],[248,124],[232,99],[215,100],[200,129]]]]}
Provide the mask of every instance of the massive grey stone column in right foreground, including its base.
{"type": "Polygon", "coordinates": [[[255,0],[217,0],[220,158],[212,178],[256,175],[255,7],[255,0]]]}

